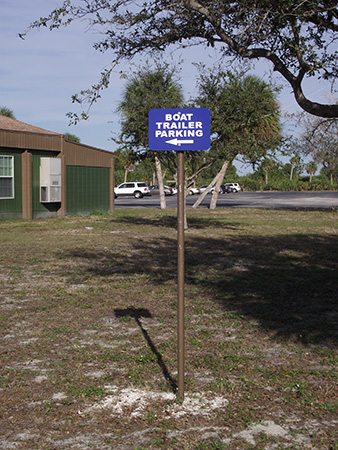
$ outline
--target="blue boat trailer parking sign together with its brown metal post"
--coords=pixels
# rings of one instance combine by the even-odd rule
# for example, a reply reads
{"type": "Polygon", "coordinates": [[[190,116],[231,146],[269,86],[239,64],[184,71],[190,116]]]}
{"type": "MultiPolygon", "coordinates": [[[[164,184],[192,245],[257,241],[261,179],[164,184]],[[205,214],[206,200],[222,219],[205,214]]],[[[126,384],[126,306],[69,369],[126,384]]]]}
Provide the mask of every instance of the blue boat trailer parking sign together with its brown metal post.
{"type": "Polygon", "coordinates": [[[177,151],[177,399],[184,400],[184,151],[210,147],[210,111],[207,108],[151,109],[149,111],[149,148],[177,151]]]}

